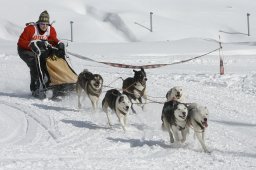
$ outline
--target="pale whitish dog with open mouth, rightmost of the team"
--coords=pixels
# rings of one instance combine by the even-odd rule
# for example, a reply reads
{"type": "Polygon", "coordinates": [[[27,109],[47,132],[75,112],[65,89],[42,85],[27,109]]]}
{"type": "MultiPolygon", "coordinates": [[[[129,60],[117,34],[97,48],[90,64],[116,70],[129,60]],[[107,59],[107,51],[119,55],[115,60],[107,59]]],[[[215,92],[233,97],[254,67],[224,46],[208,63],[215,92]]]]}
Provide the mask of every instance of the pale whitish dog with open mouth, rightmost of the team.
{"type": "MultiPolygon", "coordinates": [[[[208,115],[209,111],[207,107],[201,106],[197,103],[188,104],[188,121],[186,128],[193,128],[195,136],[197,137],[205,152],[209,152],[204,142],[204,132],[208,127],[208,115]]],[[[186,132],[188,133],[189,131],[186,132]]]]}

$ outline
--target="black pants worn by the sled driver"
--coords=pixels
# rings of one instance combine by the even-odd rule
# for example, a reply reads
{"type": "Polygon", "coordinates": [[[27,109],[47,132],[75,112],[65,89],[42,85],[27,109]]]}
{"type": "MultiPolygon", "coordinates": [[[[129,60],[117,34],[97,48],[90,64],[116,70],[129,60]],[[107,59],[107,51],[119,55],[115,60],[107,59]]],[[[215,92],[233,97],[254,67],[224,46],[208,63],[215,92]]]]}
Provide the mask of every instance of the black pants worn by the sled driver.
{"type": "MultiPolygon", "coordinates": [[[[18,47],[18,54],[20,58],[27,64],[30,69],[30,91],[35,91],[40,87],[40,80],[39,80],[39,66],[37,64],[37,57],[32,51],[24,50],[18,47]]],[[[43,76],[47,76],[48,81],[45,83],[46,87],[49,85],[49,74],[46,68],[46,56],[47,54],[42,54],[40,56],[40,66],[43,76]]]]}

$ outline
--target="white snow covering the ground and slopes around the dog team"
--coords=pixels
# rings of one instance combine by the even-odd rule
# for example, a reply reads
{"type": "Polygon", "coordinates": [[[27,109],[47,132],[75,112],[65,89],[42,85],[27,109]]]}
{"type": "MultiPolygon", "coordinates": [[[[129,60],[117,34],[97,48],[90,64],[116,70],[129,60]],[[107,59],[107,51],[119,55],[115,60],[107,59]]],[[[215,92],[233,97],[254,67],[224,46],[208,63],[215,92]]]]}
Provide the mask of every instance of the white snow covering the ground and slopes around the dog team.
{"type": "MultiPolygon", "coordinates": [[[[0,169],[256,169],[256,2],[0,2],[5,4],[0,7],[0,169]],[[31,97],[29,70],[17,55],[16,43],[24,23],[37,20],[44,9],[56,20],[60,38],[70,37],[64,24],[70,20],[74,26],[80,24],[67,50],[96,61],[171,64],[217,49],[220,35],[225,74],[219,75],[218,51],[183,64],[146,69],[147,93],[153,102],[145,111],[135,106],[138,114],[128,115],[126,133],[115,115],[109,128],[101,105],[94,113],[87,98],[78,110],[75,94],[59,102],[31,97]],[[152,33],[134,24],[147,25],[149,11],[158,23],[152,33]],[[247,12],[252,36],[219,32],[246,33],[247,12]],[[117,20],[104,21],[108,13],[117,20]],[[193,133],[178,145],[170,144],[168,133],[161,130],[163,104],[154,101],[164,102],[166,92],[177,85],[187,91],[188,102],[198,102],[210,111],[206,131],[210,154],[202,151],[193,133]]],[[[118,77],[133,75],[132,69],[69,57],[77,73],[89,69],[103,76],[104,85],[118,89],[122,86],[118,77]]],[[[100,103],[107,90],[103,89],[100,103]]]]}

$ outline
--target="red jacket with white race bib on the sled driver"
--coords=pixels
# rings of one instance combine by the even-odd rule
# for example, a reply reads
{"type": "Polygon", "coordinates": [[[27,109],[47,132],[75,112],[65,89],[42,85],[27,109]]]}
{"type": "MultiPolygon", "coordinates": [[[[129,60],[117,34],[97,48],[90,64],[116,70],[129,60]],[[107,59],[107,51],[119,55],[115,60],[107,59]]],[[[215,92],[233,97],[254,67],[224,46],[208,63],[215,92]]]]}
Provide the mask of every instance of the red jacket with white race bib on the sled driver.
{"type": "Polygon", "coordinates": [[[24,31],[20,35],[17,45],[20,48],[31,51],[29,44],[32,40],[35,39],[48,40],[48,42],[51,43],[53,46],[56,46],[59,42],[54,27],[48,26],[46,32],[40,32],[37,25],[28,25],[24,28],[24,31]]]}

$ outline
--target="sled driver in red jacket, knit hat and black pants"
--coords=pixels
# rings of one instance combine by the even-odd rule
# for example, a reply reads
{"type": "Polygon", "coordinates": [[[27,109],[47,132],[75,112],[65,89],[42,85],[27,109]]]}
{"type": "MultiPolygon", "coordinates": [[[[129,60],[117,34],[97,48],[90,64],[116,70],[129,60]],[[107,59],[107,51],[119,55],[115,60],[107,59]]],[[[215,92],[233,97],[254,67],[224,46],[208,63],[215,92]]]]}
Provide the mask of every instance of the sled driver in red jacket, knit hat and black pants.
{"type": "Polygon", "coordinates": [[[46,86],[49,85],[49,75],[46,69],[46,58],[49,55],[49,51],[47,50],[46,42],[57,47],[62,51],[62,54],[65,55],[65,46],[63,43],[59,42],[55,28],[50,25],[48,12],[43,11],[36,23],[26,24],[17,43],[18,54],[30,69],[30,90],[32,95],[40,98],[42,96],[40,96],[39,88],[41,88],[40,86],[42,86],[42,84],[40,84],[39,80],[39,71],[42,71],[43,74],[46,75],[44,76],[46,79],[48,78],[48,80],[41,81],[45,81],[46,86]],[[37,57],[40,58],[40,61],[38,61],[37,57]],[[39,70],[39,68],[41,68],[41,70],[39,70]]]}

